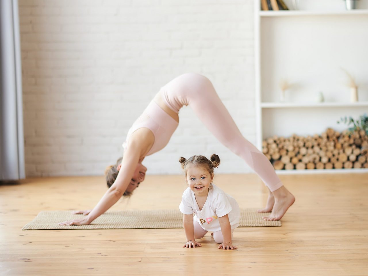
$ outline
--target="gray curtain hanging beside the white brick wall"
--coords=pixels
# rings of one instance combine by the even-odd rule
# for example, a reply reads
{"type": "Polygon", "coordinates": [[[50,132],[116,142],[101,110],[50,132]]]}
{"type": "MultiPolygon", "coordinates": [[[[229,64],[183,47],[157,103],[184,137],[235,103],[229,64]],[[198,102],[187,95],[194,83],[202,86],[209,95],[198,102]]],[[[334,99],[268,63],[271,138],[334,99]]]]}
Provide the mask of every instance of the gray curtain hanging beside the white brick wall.
{"type": "Polygon", "coordinates": [[[25,178],[18,0],[0,0],[0,180],[25,178]]]}

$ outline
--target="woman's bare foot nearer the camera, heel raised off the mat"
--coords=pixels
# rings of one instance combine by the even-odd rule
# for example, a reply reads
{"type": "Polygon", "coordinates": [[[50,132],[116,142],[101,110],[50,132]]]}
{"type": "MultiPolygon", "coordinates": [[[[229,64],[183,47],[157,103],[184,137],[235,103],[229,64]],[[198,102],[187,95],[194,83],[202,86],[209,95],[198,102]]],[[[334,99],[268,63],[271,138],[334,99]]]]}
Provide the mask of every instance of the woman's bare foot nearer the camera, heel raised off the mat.
{"type": "Polygon", "coordinates": [[[267,217],[263,217],[264,220],[280,220],[295,201],[294,196],[284,186],[273,191],[273,197],[275,204],[272,213],[267,217]]]}

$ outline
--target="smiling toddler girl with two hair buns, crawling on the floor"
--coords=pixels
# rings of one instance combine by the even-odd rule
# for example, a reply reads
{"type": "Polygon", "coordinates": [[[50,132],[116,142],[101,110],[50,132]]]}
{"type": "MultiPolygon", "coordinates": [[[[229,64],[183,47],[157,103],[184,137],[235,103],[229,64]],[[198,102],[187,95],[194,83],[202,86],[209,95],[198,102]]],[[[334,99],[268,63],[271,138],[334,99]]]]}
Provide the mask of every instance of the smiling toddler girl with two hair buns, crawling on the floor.
{"type": "Polygon", "coordinates": [[[179,161],[189,186],[179,206],[184,214],[183,225],[187,237],[183,247],[201,246],[195,239],[213,231],[213,239],[220,244],[219,248],[237,249],[231,243],[231,237],[239,226],[239,205],[212,183],[213,168],[220,164],[219,156],[213,154],[210,161],[202,155],[194,155],[188,160],[181,157],[179,161]]]}

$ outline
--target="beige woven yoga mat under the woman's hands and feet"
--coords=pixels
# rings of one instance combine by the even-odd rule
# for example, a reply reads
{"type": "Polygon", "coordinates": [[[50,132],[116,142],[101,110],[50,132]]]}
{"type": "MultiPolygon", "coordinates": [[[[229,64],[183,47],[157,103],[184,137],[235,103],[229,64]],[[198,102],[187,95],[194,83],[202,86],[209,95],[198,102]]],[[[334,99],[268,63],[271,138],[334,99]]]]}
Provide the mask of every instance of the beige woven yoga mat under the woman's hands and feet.
{"type": "MultiPolygon", "coordinates": [[[[239,227],[281,226],[279,220],[262,219],[262,216],[268,214],[270,213],[258,213],[256,209],[242,209],[239,227]]],[[[58,224],[81,217],[83,215],[73,215],[70,211],[43,211],[22,230],[183,228],[183,214],[178,210],[110,211],[99,216],[89,225],[58,224]]]]}

